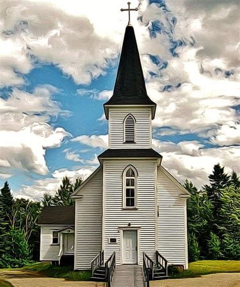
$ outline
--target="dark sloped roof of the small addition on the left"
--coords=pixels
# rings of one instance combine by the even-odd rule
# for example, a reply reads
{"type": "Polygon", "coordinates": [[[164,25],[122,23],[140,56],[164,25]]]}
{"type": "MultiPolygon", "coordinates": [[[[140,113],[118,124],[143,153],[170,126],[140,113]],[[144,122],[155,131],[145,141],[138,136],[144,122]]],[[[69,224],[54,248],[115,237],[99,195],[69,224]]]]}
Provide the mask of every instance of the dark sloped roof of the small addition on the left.
{"type": "Polygon", "coordinates": [[[74,225],[75,207],[45,207],[38,225],[74,225]]]}

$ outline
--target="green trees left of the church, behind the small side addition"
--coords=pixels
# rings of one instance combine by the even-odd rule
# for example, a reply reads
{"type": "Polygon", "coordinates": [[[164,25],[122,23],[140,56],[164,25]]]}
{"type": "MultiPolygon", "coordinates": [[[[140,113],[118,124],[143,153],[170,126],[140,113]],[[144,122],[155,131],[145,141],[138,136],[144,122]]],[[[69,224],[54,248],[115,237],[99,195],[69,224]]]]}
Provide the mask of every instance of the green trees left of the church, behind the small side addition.
{"type": "Polygon", "coordinates": [[[44,194],[41,201],[14,198],[6,181],[0,194],[0,268],[22,267],[39,261],[40,227],[37,221],[45,206],[72,206],[72,192],[82,183],[68,177],[54,195],[44,194]]]}

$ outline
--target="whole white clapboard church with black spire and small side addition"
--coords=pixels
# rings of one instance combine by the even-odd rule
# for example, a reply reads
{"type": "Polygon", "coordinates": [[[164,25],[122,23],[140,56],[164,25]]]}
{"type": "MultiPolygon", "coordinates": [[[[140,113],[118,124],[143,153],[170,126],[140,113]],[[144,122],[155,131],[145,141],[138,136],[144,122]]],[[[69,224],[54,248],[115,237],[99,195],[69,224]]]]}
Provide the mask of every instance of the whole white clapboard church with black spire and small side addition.
{"type": "Polygon", "coordinates": [[[39,221],[42,261],[61,263],[70,256],[75,270],[95,270],[114,255],[115,265],[155,265],[164,259],[188,268],[189,193],[152,149],[155,110],[134,29],[128,25],[113,95],[104,104],[109,147],[72,195],[75,207],[44,209],[39,221]]]}

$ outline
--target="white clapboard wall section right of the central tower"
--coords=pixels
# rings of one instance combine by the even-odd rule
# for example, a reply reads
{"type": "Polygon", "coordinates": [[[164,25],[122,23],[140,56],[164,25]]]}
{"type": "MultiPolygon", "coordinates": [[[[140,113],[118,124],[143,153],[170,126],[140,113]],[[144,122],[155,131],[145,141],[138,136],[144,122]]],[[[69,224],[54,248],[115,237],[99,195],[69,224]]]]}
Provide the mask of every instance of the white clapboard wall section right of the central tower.
{"type": "Polygon", "coordinates": [[[158,251],[170,264],[187,266],[186,198],[179,188],[157,169],[158,251]]]}

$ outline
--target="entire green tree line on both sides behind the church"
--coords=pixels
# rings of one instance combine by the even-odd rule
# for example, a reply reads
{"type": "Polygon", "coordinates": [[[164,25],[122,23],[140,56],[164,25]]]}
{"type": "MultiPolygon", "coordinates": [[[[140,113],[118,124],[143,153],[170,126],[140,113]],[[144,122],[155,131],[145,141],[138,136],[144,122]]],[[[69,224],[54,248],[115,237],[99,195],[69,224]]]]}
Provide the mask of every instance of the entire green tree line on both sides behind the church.
{"type": "MultiPolygon", "coordinates": [[[[14,198],[8,182],[0,194],[0,267],[22,267],[39,260],[39,216],[45,206],[73,206],[72,192],[81,185],[68,177],[54,195],[41,201],[14,198]]],[[[235,172],[214,166],[209,184],[197,189],[186,180],[191,197],[187,203],[188,256],[202,259],[240,259],[240,181],[235,172]]]]}

